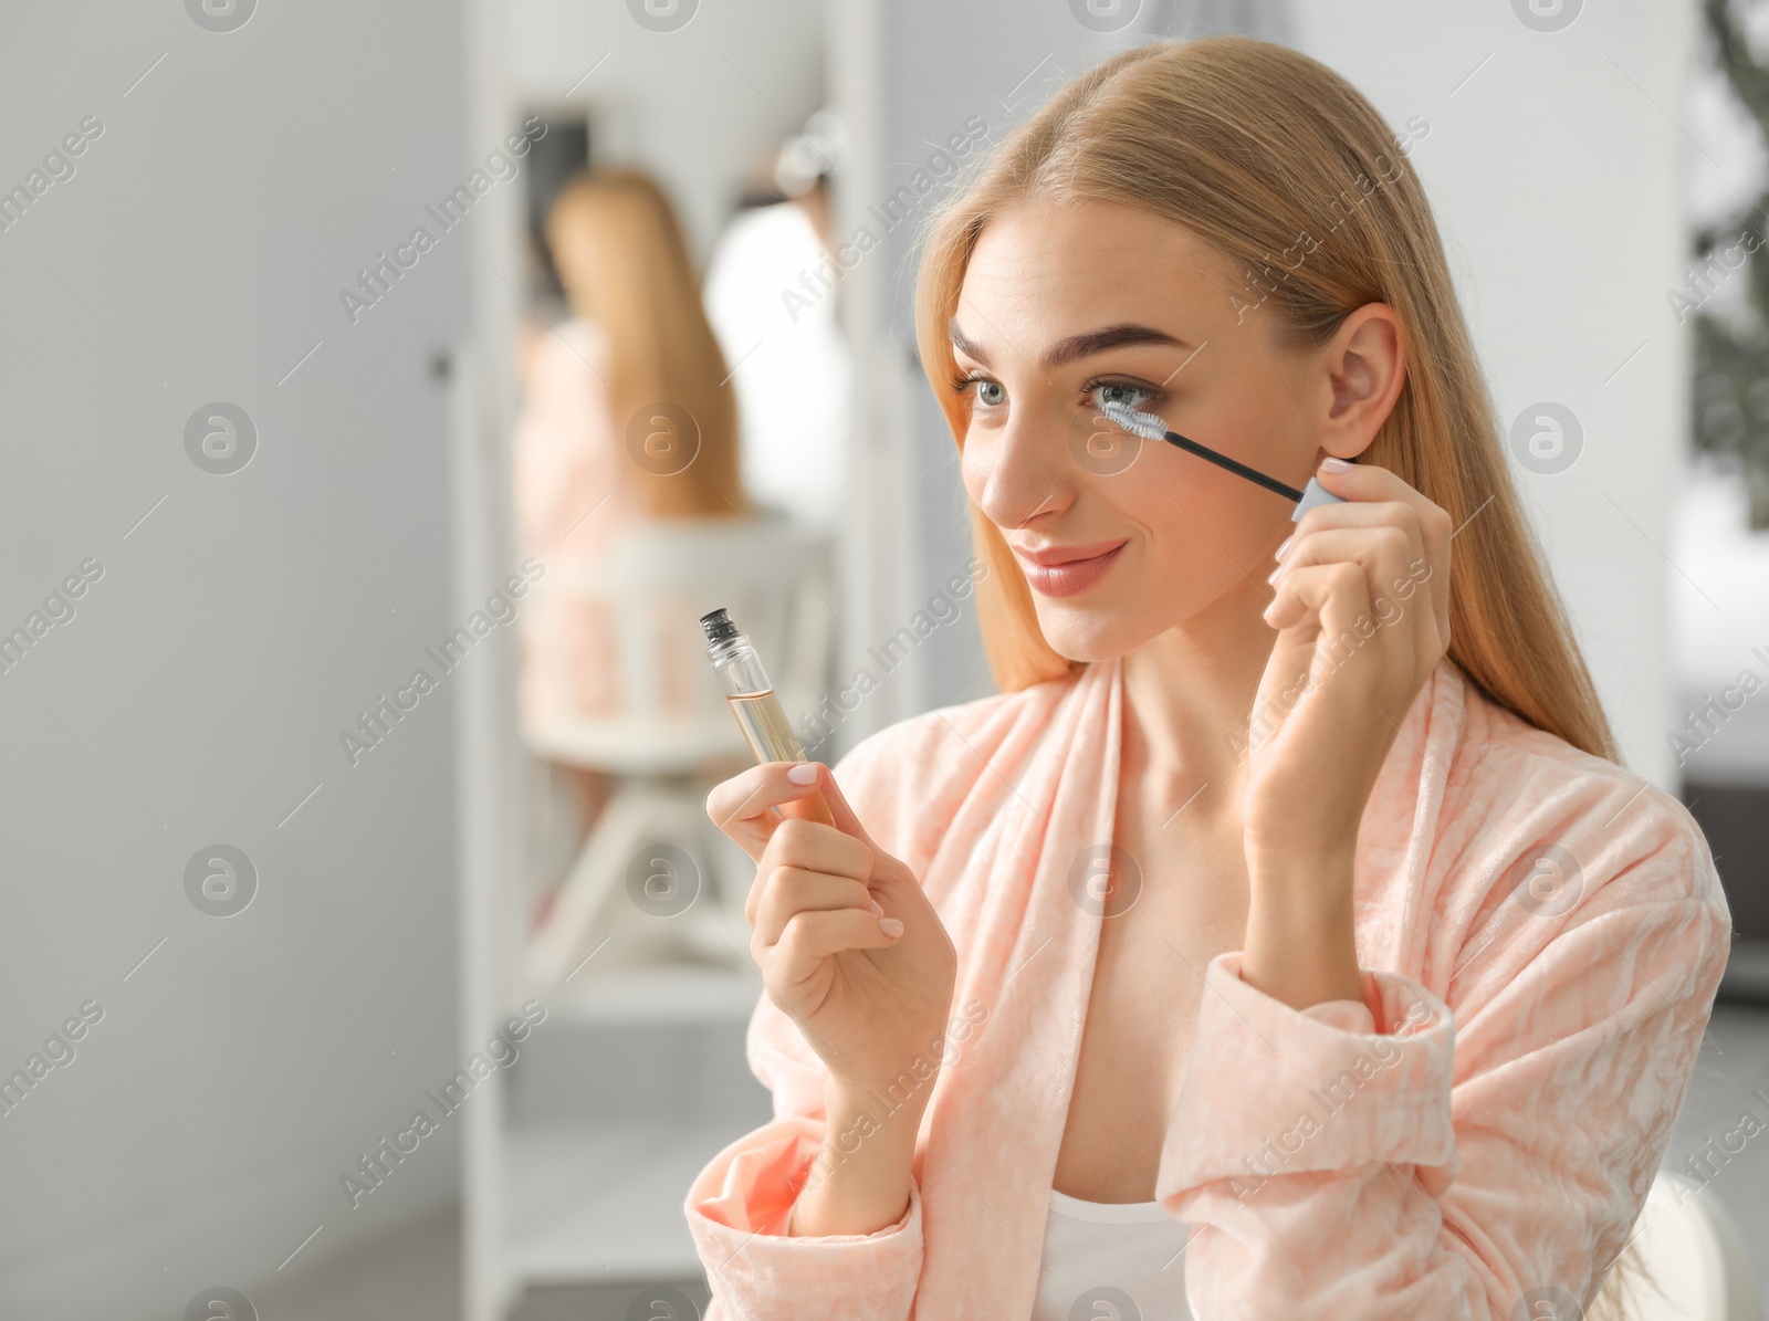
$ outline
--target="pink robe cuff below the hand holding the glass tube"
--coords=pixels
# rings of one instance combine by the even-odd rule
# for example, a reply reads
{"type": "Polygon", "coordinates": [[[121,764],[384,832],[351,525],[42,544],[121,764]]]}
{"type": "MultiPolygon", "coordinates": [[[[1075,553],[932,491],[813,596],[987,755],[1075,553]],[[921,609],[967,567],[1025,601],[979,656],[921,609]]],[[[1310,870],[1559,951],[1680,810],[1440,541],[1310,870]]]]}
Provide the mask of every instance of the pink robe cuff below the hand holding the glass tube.
{"type": "Polygon", "coordinates": [[[922,1192],[870,1234],[787,1236],[798,1188],[823,1151],[823,1121],[762,1125],[715,1155],[683,1203],[708,1284],[734,1316],[907,1316],[922,1275],[922,1192]]]}

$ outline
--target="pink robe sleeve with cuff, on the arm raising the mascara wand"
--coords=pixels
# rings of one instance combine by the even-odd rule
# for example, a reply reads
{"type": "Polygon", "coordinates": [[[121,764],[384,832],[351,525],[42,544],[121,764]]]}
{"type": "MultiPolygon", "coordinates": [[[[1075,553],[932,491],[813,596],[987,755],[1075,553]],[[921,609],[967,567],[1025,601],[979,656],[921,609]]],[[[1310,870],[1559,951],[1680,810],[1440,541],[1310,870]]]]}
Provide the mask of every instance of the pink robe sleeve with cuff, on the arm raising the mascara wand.
{"type": "Polygon", "coordinates": [[[1631,785],[1527,766],[1465,783],[1468,838],[1433,859],[1438,925],[1468,914],[1426,962],[1438,992],[1366,971],[1362,1004],[1298,1012],[1240,980],[1240,951],[1210,962],[1157,1178],[1194,1226],[1199,1321],[1590,1303],[1665,1155],[1732,934],[1693,819],[1631,785]]]}

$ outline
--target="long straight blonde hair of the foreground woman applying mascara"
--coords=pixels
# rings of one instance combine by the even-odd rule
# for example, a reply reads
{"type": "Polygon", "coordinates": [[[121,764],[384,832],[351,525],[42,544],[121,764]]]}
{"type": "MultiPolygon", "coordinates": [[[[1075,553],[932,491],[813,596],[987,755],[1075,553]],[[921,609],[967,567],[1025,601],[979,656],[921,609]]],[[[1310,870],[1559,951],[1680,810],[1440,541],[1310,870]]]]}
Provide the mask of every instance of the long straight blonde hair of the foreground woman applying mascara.
{"type": "MultiPolygon", "coordinates": [[[[964,269],[989,219],[1030,196],[1145,207],[1212,242],[1231,269],[1268,272],[1245,301],[1268,294],[1279,343],[1290,347],[1325,343],[1367,302],[1394,308],[1406,380],[1366,460],[1442,506],[1459,529],[1449,656],[1498,706],[1617,760],[1512,490],[1424,189],[1357,88],[1306,55],[1251,37],[1157,41],[1077,76],[978,161],[929,225],[915,299],[922,368],[961,451],[969,417],[952,387],[950,324],[964,269]],[[1318,246],[1300,244],[1302,235],[1318,246]],[[1291,265],[1281,263],[1284,251],[1307,255],[1291,265]]],[[[1001,531],[975,502],[969,518],[991,568],[976,594],[996,683],[1015,691],[1079,668],[1044,640],[1001,531]]],[[[1592,1317],[1620,1316],[1624,1291],[1643,1273],[1633,1248],[1617,1264],[1592,1317]]]]}

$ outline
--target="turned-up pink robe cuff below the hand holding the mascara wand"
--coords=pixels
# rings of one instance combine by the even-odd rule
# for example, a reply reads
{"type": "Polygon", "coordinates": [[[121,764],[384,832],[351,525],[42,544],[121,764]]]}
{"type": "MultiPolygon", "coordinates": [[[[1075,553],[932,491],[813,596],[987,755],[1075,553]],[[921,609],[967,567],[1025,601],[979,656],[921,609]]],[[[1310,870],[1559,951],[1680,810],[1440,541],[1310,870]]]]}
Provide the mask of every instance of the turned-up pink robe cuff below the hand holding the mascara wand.
{"type": "MultiPolygon", "coordinates": [[[[1185,1086],[1155,1195],[1185,1220],[1219,1180],[1240,1199],[1283,1174],[1419,1165],[1440,1194],[1456,1174],[1456,1024],[1413,978],[1364,973],[1364,999],[1295,1010],[1240,980],[1242,951],[1205,969],[1185,1086]]],[[[1222,1192],[1222,1188],[1215,1188],[1222,1192]]]]}

